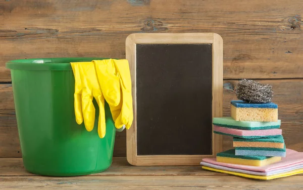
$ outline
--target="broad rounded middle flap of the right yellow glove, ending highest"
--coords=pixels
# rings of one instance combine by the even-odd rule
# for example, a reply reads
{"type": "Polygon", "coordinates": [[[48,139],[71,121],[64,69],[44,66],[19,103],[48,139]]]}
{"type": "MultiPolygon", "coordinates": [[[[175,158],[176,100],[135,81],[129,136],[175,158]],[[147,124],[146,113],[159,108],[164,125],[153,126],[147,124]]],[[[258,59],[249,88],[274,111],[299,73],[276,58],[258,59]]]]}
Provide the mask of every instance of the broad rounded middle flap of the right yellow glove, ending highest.
{"type": "Polygon", "coordinates": [[[120,103],[120,81],[112,59],[94,60],[100,88],[107,103],[118,106],[120,103]]]}

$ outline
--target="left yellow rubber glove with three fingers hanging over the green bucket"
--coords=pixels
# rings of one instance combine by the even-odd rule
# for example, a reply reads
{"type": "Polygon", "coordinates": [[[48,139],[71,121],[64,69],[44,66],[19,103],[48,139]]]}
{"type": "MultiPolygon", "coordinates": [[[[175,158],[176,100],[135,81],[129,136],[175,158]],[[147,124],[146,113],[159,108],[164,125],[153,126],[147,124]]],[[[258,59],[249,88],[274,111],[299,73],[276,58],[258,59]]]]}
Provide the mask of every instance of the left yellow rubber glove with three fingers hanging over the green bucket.
{"type": "Polygon", "coordinates": [[[95,121],[95,108],[92,100],[95,98],[99,107],[98,135],[103,138],[106,134],[104,96],[100,89],[93,62],[71,63],[75,77],[74,107],[77,124],[84,125],[91,131],[95,121]]]}

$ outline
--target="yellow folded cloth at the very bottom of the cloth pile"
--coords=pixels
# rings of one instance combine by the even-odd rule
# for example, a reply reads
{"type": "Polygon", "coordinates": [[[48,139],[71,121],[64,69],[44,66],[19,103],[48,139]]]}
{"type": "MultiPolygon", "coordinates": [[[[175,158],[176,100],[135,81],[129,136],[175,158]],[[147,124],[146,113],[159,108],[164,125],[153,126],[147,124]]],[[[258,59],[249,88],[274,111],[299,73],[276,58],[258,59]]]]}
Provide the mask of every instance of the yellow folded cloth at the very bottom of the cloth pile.
{"type": "Polygon", "coordinates": [[[226,171],[226,170],[215,169],[215,168],[207,167],[207,166],[202,166],[202,168],[206,169],[206,170],[210,170],[210,171],[216,171],[216,172],[220,172],[220,173],[228,173],[228,174],[237,175],[237,176],[241,176],[241,177],[254,178],[254,179],[262,179],[262,180],[276,179],[276,178],[287,177],[287,176],[303,173],[303,168],[301,168],[301,169],[295,169],[295,170],[284,172],[284,173],[269,175],[269,176],[251,175],[251,174],[239,173],[239,172],[234,172],[234,171],[226,171]]]}

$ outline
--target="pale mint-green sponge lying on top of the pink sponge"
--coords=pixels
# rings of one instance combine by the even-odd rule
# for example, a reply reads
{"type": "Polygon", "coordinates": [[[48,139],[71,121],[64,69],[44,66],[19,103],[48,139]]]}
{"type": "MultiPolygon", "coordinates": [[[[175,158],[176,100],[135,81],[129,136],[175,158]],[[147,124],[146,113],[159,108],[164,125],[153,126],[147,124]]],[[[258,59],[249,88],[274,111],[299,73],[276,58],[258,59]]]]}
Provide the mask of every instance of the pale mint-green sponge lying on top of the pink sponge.
{"type": "Polygon", "coordinates": [[[249,122],[236,121],[232,117],[213,118],[213,124],[220,127],[241,129],[241,130],[263,130],[278,129],[281,126],[281,120],[277,122],[249,122]]]}

